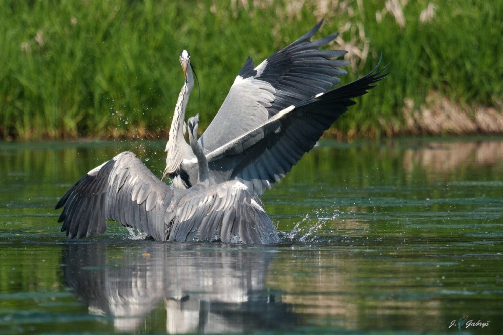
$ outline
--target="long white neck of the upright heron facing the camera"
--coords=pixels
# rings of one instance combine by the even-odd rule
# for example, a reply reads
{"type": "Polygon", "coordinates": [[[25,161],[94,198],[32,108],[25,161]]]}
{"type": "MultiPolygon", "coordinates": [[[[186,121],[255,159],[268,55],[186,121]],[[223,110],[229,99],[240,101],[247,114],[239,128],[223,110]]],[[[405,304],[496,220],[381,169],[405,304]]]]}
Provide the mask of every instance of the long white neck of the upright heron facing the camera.
{"type": "Polygon", "coordinates": [[[187,67],[185,83],[178,95],[175,113],[171,122],[170,137],[167,140],[165,150],[167,152],[167,158],[164,175],[175,172],[180,167],[180,164],[182,164],[184,158],[186,158],[187,152],[190,152],[190,148],[184,138],[184,121],[185,110],[187,108],[187,102],[189,101],[192,88],[194,88],[194,78],[192,77],[192,68],[189,65],[187,67]]]}

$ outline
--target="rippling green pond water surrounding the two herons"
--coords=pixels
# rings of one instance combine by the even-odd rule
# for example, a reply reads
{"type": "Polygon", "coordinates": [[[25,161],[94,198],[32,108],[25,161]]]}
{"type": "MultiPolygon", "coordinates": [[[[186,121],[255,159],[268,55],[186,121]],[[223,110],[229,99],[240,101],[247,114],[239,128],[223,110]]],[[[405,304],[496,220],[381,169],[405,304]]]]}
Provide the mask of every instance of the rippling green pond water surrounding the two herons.
{"type": "Polygon", "coordinates": [[[502,138],[322,141],[262,196],[279,245],[65,239],[75,181],[163,147],[0,143],[0,333],[501,333],[502,138]]]}

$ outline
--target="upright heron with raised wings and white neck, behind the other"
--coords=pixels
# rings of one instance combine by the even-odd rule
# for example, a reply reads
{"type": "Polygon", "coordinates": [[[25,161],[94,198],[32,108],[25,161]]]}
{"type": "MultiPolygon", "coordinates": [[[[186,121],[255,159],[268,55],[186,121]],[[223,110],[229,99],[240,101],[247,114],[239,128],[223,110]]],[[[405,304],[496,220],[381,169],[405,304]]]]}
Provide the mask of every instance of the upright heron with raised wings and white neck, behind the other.
{"type": "MultiPolygon", "coordinates": [[[[216,182],[238,180],[257,194],[281,181],[323,132],[355,104],[352,98],[374,87],[386,76],[377,70],[344,86],[330,89],[347,74],[349,63],[335,59],[344,50],[320,50],[337,33],[311,41],[321,20],[302,37],[254,68],[248,60],[236,77],[215,118],[199,143],[209,174],[216,182]]],[[[180,55],[185,85],[180,92],[166,145],[166,168],[177,188],[198,179],[197,160],[184,139],[187,101],[194,87],[190,56],[180,55]]]]}

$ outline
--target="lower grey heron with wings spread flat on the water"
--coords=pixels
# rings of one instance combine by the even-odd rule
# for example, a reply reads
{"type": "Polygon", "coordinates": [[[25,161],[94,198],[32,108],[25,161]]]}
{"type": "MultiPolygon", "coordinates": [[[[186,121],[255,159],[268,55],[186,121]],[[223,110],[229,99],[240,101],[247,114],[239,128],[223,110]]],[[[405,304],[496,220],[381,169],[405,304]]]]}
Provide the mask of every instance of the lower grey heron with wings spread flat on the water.
{"type": "Polygon", "coordinates": [[[189,138],[200,159],[200,182],[189,189],[173,189],[132,152],[122,152],[89,171],[59,200],[61,231],[69,238],[92,237],[104,233],[107,220],[113,220],[157,241],[280,242],[256,194],[236,180],[208,179],[197,125],[197,117],[189,120],[189,138]]]}

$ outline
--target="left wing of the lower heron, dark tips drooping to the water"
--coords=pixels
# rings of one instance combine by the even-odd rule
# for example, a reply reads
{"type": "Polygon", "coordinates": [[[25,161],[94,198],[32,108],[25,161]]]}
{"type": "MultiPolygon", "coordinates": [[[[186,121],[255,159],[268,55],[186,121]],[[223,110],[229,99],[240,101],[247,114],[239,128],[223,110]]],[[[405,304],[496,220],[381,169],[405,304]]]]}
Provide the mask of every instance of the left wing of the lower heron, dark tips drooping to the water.
{"type": "Polygon", "coordinates": [[[166,239],[165,202],[173,190],[161,182],[132,152],[122,152],[94,168],[59,200],[58,222],[70,238],[91,237],[107,229],[107,220],[166,239]]]}

